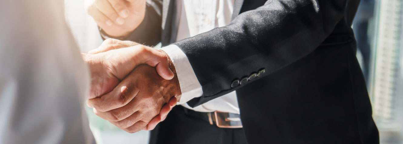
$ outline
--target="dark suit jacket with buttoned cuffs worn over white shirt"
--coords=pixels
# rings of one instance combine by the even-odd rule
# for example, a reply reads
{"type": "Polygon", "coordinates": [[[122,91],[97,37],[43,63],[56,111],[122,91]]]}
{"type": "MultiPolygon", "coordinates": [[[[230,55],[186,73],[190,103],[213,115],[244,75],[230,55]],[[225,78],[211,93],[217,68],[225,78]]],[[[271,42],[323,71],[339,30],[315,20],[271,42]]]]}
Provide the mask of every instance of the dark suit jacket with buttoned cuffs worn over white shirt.
{"type": "MultiPolygon", "coordinates": [[[[127,39],[171,44],[172,1],[148,0],[143,23],[127,39]]],[[[230,25],[174,43],[203,89],[188,104],[237,90],[249,144],[378,144],[351,29],[358,3],[235,0],[230,25]],[[262,76],[231,87],[261,69],[262,76]]]]}

